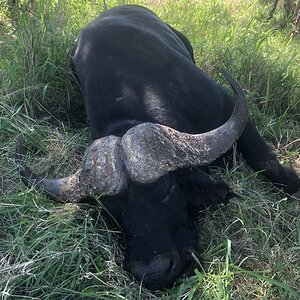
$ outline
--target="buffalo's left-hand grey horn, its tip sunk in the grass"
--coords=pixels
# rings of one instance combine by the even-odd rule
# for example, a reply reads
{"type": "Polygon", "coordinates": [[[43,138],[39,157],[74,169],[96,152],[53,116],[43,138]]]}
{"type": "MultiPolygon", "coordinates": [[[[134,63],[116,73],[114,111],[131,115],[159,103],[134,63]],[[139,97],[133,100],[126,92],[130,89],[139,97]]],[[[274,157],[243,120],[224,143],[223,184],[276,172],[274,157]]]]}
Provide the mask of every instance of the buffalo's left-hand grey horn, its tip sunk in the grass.
{"type": "Polygon", "coordinates": [[[23,138],[18,138],[15,159],[22,181],[27,186],[34,186],[59,202],[78,202],[93,193],[117,194],[125,187],[127,177],[118,154],[119,140],[118,137],[109,136],[94,141],[87,148],[80,169],[60,179],[42,178],[24,166],[23,138]]]}

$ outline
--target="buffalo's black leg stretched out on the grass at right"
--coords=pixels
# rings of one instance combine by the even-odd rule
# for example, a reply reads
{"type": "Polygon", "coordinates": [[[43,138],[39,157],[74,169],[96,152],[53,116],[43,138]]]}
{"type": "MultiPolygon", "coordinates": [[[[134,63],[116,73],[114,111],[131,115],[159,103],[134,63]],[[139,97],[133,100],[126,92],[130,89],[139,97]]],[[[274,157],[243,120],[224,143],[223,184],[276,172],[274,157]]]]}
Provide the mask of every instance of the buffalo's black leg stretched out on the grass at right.
{"type": "Polygon", "coordinates": [[[269,178],[278,188],[293,194],[300,187],[300,179],[296,172],[279,163],[275,153],[258,133],[254,123],[249,121],[238,140],[238,150],[255,171],[269,178]]]}

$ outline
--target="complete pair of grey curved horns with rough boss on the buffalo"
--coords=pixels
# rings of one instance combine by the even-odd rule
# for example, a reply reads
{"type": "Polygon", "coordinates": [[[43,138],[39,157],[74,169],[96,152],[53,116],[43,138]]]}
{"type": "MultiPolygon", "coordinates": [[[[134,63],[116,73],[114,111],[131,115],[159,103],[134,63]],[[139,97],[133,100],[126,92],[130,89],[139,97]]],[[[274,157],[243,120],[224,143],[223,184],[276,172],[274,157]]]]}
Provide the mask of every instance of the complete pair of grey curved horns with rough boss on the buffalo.
{"type": "MultiPolygon", "coordinates": [[[[25,166],[20,170],[22,180],[60,202],[78,202],[94,193],[119,193],[126,188],[128,175],[136,182],[150,183],[178,168],[208,165],[232,147],[248,120],[242,88],[230,74],[223,74],[236,94],[236,104],[222,126],[202,134],[188,134],[143,123],[122,138],[107,136],[95,140],[87,148],[80,169],[69,177],[45,179],[25,166]]],[[[18,140],[16,161],[21,165],[22,152],[22,142],[18,140]]]]}

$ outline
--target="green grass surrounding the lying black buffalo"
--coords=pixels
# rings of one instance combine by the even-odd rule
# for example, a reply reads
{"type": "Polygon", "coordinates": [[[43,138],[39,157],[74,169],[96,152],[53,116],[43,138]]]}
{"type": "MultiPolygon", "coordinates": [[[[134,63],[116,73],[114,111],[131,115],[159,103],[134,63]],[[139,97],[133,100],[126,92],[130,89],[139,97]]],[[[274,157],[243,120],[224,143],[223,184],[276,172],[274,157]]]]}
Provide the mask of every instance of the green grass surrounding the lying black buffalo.
{"type": "MultiPolygon", "coordinates": [[[[204,71],[223,84],[218,68],[231,72],[280,161],[300,168],[300,37],[279,9],[266,21],[272,1],[106,2],[148,6],[188,36],[204,71]]],[[[41,0],[31,15],[21,3],[0,5],[0,299],[299,299],[299,193],[287,199],[243,162],[215,171],[239,197],[199,219],[202,268],[156,292],[123,270],[122,235],[101,206],[58,205],[22,185],[19,134],[30,166],[50,176],[74,171],[90,142],[69,60],[104,6],[41,0]]]]}

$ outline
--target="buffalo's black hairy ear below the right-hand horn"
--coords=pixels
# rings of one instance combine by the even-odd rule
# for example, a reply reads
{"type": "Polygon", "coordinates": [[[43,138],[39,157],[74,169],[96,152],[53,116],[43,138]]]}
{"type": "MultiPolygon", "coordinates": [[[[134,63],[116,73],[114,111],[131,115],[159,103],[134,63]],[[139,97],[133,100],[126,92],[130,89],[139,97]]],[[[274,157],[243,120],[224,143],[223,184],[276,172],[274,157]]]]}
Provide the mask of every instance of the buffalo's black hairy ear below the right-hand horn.
{"type": "Polygon", "coordinates": [[[180,176],[182,191],[192,214],[210,206],[228,204],[235,196],[225,181],[215,179],[201,169],[192,168],[183,172],[180,176]]]}

